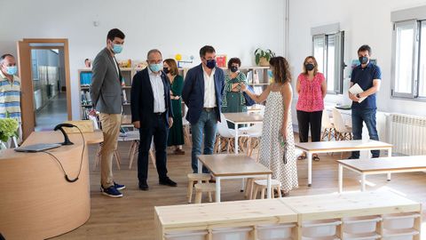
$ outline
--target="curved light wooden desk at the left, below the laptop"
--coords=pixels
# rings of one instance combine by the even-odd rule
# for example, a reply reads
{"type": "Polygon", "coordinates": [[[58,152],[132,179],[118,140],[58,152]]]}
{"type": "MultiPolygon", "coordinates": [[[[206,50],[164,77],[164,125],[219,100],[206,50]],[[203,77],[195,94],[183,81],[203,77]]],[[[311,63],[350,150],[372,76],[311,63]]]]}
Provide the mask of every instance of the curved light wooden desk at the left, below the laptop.
{"type": "MultiPolygon", "coordinates": [[[[103,141],[102,132],[84,132],[86,144],[103,141]]],[[[80,168],[83,140],[68,134],[75,144],[49,150],[74,179],[80,168]]],[[[60,132],[32,132],[23,145],[63,141],[60,132]]],[[[67,233],[91,214],[88,150],[80,177],[67,182],[56,160],[45,153],[0,151],[0,232],[6,239],[44,239],[67,233]]]]}

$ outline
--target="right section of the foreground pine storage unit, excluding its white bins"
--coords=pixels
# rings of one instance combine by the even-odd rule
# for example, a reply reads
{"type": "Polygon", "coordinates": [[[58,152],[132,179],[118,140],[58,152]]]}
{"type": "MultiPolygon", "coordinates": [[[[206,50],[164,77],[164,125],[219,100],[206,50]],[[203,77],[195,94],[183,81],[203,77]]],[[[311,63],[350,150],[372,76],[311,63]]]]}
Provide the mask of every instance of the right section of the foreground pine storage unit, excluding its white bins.
{"type": "MultiPolygon", "coordinates": [[[[383,219],[389,214],[404,212],[419,213],[414,220],[413,230],[419,233],[421,231],[420,213],[422,212],[422,204],[388,190],[284,197],[280,198],[279,201],[297,212],[298,239],[301,239],[303,235],[302,226],[304,223],[312,220],[339,220],[344,224],[345,219],[351,217],[380,216],[383,219]]],[[[354,239],[353,236],[345,236],[342,227],[337,228],[336,236],[340,239],[354,239]]],[[[385,236],[385,232],[383,222],[380,221],[375,234],[385,236]]],[[[414,236],[414,239],[420,240],[420,234],[414,236]]]]}

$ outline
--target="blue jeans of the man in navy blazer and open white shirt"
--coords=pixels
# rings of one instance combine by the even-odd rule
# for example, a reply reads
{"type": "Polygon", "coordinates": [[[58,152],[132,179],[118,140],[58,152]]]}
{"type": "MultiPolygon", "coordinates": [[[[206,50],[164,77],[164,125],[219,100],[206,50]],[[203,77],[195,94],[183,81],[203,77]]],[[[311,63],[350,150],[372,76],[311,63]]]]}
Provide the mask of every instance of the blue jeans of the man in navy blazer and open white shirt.
{"type": "MultiPolygon", "coordinates": [[[[217,132],[217,112],[215,110],[207,112],[202,110],[200,119],[196,124],[191,124],[191,133],[193,135],[193,150],[191,152],[191,166],[193,173],[198,172],[198,158],[201,155],[202,136],[204,135],[203,155],[213,154],[217,132]]],[[[202,168],[202,172],[209,172],[202,168]]]]}

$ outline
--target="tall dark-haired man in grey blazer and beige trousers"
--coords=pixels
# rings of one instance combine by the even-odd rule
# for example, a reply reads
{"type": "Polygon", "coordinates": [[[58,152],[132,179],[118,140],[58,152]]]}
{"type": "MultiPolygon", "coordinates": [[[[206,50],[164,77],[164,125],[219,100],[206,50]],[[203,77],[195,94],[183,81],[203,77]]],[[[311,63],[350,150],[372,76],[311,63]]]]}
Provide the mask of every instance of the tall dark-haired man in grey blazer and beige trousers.
{"type": "MultiPolygon", "coordinates": [[[[93,60],[91,78],[91,100],[93,108],[99,110],[99,119],[104,133],[104,143],[100,149],[100,188],[102,194],[121,197],[119,190],[126,188],[114,182],[113,155],[117,149],[117,139],[122,124],[122,72],[115,54],[122,52],[124,34],[114,28],[106,36],[106,48],[93,60]]],[[[94,114],[92,110],[91,114],[94,114]]]]}

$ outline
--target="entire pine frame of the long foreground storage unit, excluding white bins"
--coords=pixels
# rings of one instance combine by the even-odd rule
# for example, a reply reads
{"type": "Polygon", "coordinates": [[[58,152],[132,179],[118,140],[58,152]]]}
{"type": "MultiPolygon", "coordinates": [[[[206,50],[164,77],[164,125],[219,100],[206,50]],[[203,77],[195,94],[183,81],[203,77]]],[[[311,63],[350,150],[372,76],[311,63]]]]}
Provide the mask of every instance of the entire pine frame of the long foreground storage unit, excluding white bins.
{"type": "Polygon", "coordinates": [[[312,221],[335,224],[335,239],[356,239],[343,230],[348,218],[354,217],[378,217],[375,232],[368,232],[367,235],[385,237],[393,231],[383,224],[383,220],[390,218],[391,214],[401,213],[414,213],[413,226],[405,230],[415,232],[415,240],[421,239],[422,205],[386,190],[161,206],[154,209],[154,239],[164,239],[172,232],[205,230],[205,239],[208,240],[212,239],[213,229],[245,227],[252,229],[248,239],[254,240],[258,239],[258,230],[265,224],[293,224],[292,238],[303,239],[306,235],[304,227],[314,225],[312,221]]]}

